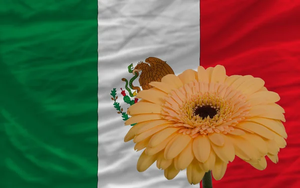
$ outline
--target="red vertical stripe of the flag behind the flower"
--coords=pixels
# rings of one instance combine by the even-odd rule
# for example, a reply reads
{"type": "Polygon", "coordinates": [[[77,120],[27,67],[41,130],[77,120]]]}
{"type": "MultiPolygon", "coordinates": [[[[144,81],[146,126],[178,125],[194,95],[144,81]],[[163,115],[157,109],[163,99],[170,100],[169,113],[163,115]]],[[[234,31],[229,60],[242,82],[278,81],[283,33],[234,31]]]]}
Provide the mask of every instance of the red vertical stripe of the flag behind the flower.
{"type": "Polygon", "coordinates": [[[279,94],[288,135],[277,164],[259,171],[235,157],[213,187],[300,187],[300,2],[200,1],[200,65],[262,78],[279,94]]]}

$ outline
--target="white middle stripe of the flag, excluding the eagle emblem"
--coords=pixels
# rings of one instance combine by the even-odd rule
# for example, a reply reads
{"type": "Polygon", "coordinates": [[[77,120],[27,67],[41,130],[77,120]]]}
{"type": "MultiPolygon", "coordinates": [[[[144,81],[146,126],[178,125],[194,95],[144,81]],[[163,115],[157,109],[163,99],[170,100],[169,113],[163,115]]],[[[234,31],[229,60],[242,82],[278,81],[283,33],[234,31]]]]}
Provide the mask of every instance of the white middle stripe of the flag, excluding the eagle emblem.
{"type": "Polygon", "coordinates": [[[124,143],[131,126],[124,126],[109,95],[116,88],[117,102],[128,108],[121,78],[129,80],[127,66],[148,57],[166,61],[175,74],[199,66],[199,1],[99,0],[98,9],[98,188],[199,187],[188,183],[186,170],[172,180],[156,162],[144,172],[136,170],[142,151],[134,151],[132,140],[124,143]]]}

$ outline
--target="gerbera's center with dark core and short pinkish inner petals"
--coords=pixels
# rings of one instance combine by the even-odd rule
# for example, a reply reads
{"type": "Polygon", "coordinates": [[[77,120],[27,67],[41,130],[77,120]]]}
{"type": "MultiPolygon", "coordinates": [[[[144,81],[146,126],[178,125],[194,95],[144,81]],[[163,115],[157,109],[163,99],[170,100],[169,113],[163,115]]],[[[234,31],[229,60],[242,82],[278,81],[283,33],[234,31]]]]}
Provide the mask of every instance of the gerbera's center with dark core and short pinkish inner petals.
{"type": "Polygon", "coordinates": [[[248,116],[251,105],[234,88],[219,83],[190,82],[171,91],[161,114],[178,132],[196,137],[213,132],[226,134],[248,116]]]}

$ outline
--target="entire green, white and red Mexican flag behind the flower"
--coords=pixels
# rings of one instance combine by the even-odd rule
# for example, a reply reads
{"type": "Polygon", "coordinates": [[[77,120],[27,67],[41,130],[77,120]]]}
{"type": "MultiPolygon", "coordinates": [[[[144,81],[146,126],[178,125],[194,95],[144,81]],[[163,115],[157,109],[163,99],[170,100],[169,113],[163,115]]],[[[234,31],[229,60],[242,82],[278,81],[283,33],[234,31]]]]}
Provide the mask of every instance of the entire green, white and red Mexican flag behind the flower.
{"type": "Polygon", "coordinates": [[[299,13],[283,0],[0,1],[0,187],[199,187],[185,170],[138,172],[142,151],[124,143],[136,93],[199,63],[262,78],[288,135],[277,164],[236,157],[213,187],[299,187],[299,13]]]}

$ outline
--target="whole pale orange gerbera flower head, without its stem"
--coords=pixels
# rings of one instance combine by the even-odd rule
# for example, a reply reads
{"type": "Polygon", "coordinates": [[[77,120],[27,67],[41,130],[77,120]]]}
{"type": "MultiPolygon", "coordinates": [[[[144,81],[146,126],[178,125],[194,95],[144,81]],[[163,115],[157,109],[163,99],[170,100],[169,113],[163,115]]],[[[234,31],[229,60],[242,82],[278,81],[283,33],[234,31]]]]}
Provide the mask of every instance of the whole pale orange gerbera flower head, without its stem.
{"type": "Polygon", "coordinates": [[[138,171],[156,161],[167,179],[186,168],[188,182],[196,184],[209,170],[221,179],[235,155],[259,170],[266,167],[265,156],[278,161],[287,137],[284,110],[262,79],[226,76],[217,65],[166,75],[150,85],[154,88],[137,94],[141,100],[128,108],[125,122],[137,124],[124,141],[145,148],[138,171]]]}

